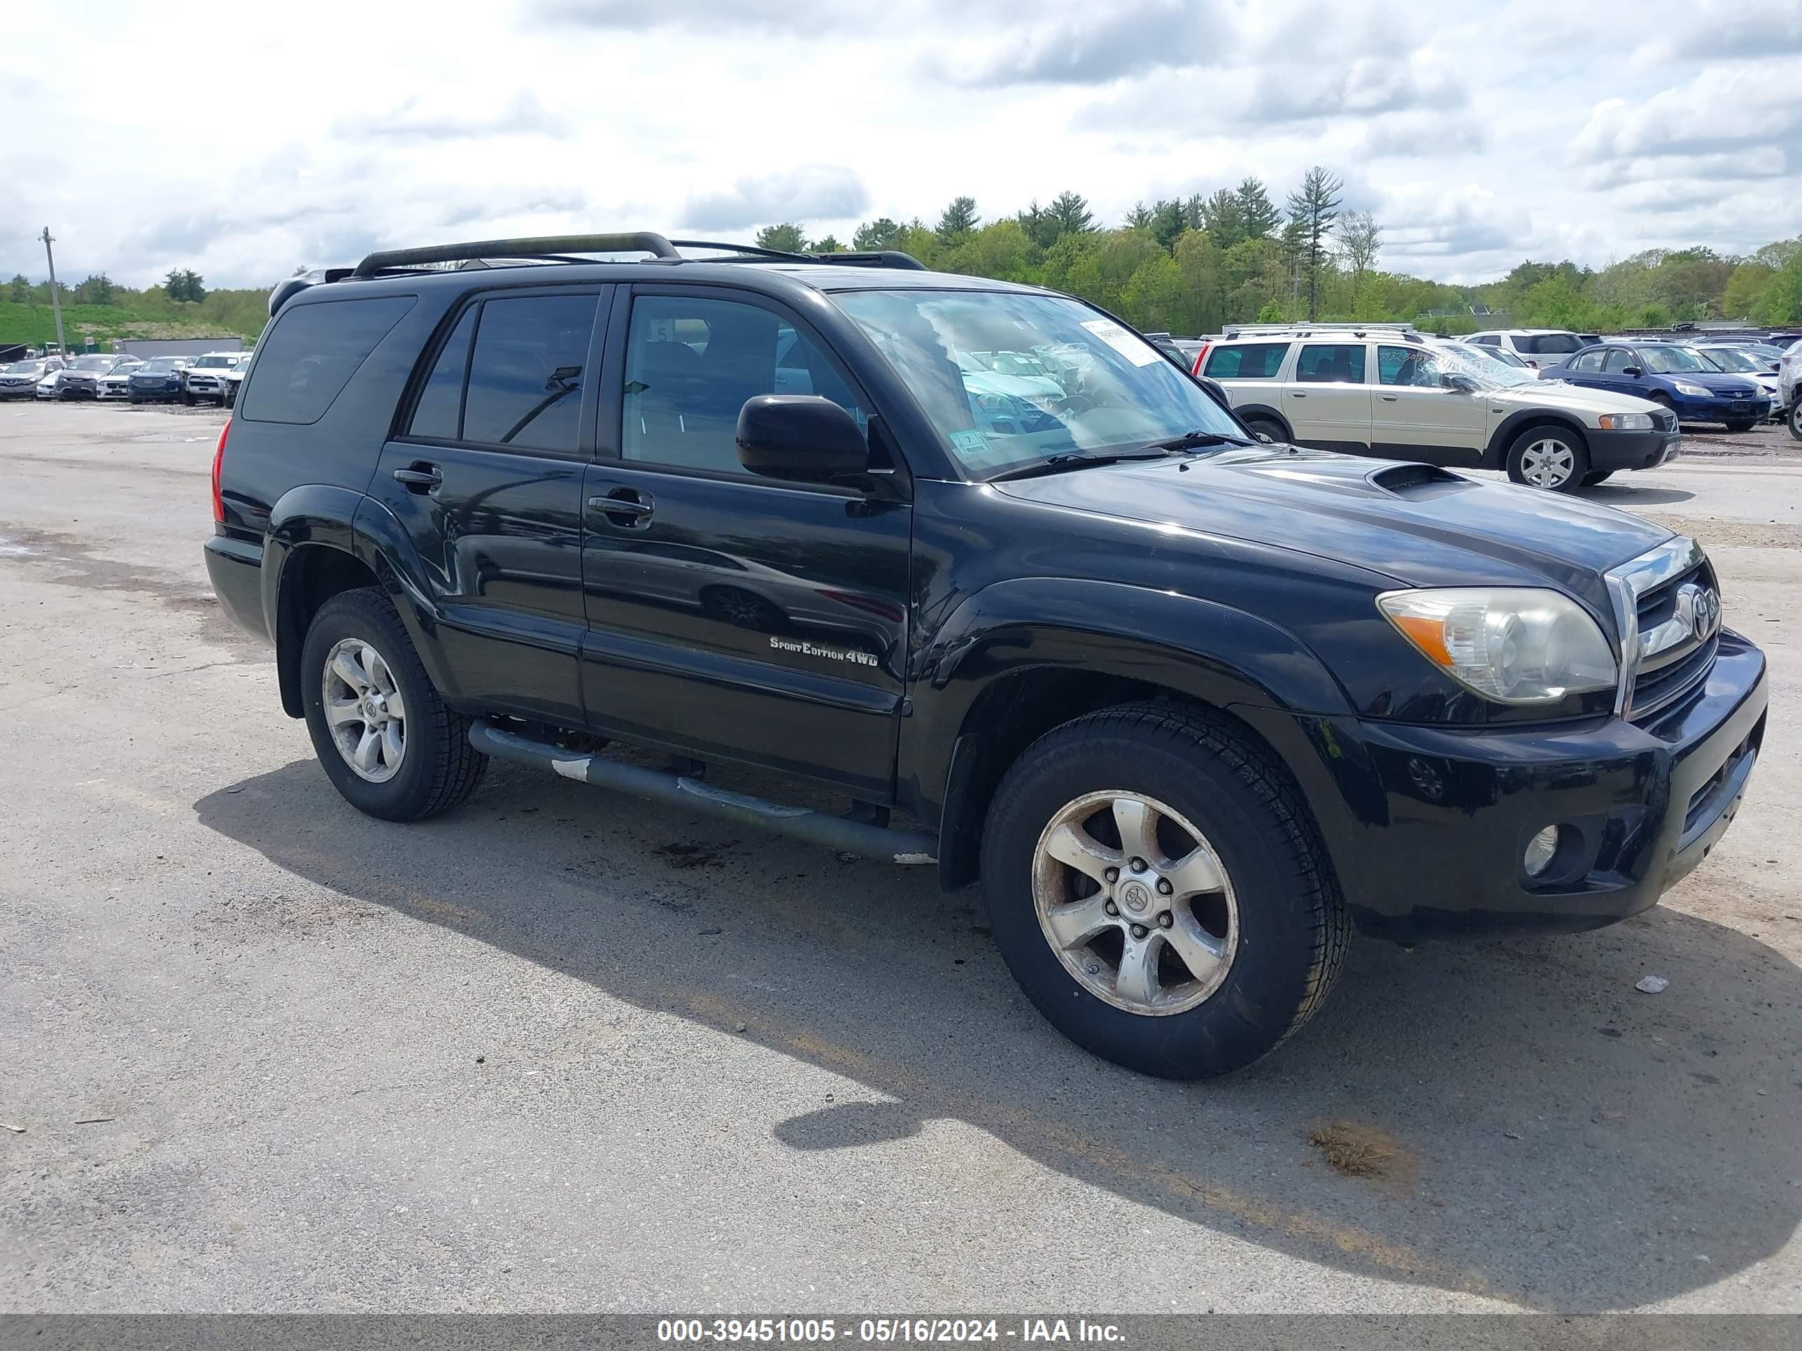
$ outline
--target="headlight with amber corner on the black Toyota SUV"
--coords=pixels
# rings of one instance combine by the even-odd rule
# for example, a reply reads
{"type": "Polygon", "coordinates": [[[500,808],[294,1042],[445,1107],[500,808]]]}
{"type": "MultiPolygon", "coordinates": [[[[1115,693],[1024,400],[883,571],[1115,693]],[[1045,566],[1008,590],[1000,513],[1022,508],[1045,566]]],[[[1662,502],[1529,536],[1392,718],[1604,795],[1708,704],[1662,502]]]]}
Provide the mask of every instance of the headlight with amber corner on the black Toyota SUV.
{"type": "Polygon", "coordinates": [[[1550,704],[1620,679],[1602,627],[1557,591],[1386,591],[1377,609],[1427,661],[1503,704],[1550,704]]]}

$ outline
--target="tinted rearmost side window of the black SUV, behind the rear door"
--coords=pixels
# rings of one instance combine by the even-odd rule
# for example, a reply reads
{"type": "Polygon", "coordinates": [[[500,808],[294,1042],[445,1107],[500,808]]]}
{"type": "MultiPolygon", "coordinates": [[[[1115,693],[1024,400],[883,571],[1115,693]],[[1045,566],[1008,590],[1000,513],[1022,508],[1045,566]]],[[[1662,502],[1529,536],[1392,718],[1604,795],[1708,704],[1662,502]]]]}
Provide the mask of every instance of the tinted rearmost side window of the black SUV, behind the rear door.
{"type": "Polygon", "coordinates": [[[250,387],[238,396],[245,422],[319,422],[416,295],[288,306],[258,344],[250,387]]]}

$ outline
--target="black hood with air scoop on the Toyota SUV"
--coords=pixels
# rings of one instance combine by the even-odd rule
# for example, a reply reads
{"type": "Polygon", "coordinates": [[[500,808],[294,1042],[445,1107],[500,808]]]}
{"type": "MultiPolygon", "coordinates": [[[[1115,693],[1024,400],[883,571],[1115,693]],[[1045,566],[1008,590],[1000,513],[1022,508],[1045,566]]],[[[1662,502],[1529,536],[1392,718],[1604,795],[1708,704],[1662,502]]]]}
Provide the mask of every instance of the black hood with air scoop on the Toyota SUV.
{"type": "Polygon", "coordinates": [[[1009,497],[1281,546],[1404,585],[1559,585],[1607,612],[1602,573],[1670,539],[1537,488],[1288,447],[1229,449],[997,483],[1009,497]],[[1188,463],[1188,468],[1182,468],[1188,463]]]}

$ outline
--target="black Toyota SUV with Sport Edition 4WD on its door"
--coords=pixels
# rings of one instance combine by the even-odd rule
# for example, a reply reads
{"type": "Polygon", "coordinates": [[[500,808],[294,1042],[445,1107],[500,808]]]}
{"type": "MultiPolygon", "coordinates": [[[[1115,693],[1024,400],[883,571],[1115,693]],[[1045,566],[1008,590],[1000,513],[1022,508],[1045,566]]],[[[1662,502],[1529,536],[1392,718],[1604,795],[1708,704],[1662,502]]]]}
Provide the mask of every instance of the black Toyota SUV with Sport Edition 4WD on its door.
{"type": "Polygon", "coordinates": [[[1764,737],[1694,542],[1260,441],[1065,295],[631,234],[270,301],[205,558],[344,798],[420,820],[501,757],[980,877],[1033,1002],[1139,1070],[1276,1047],[1353,922],[1645,910],[1764,737]]]}

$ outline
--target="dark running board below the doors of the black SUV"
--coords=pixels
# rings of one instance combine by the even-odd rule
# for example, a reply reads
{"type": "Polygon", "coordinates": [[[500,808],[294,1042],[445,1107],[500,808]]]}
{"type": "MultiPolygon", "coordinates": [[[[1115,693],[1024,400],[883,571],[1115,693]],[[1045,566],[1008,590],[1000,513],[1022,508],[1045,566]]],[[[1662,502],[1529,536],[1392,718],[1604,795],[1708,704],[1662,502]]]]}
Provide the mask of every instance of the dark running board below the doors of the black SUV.
{"type": "Polygon", "coordinates": [[[930,830],[896,830],[887,825],[854,821],[849,816],[833,816],[805,807],[784,807],[777,802],[764,802],[742,793],[726,793],[712,784],[681,775],[667,775],[658,769],[640,769],[633,764],[620,764],[598,755],[566,751],[544,740],[503,731],[488,722],[478,722],[469,730],[469,744],[496,760],[512,760],[535,769],[550,769],[564,778],[575,778],[595,787],[620,789],[652,802],[667,802],[701,816],[715,816],[721,821],[737,825],[755,825],[773,830],[778,836],[804,839],[809,845],[842,848],[847,854],[861,854],[869,859],[888,863],[937,863],[939,836],[930,830]]]}

